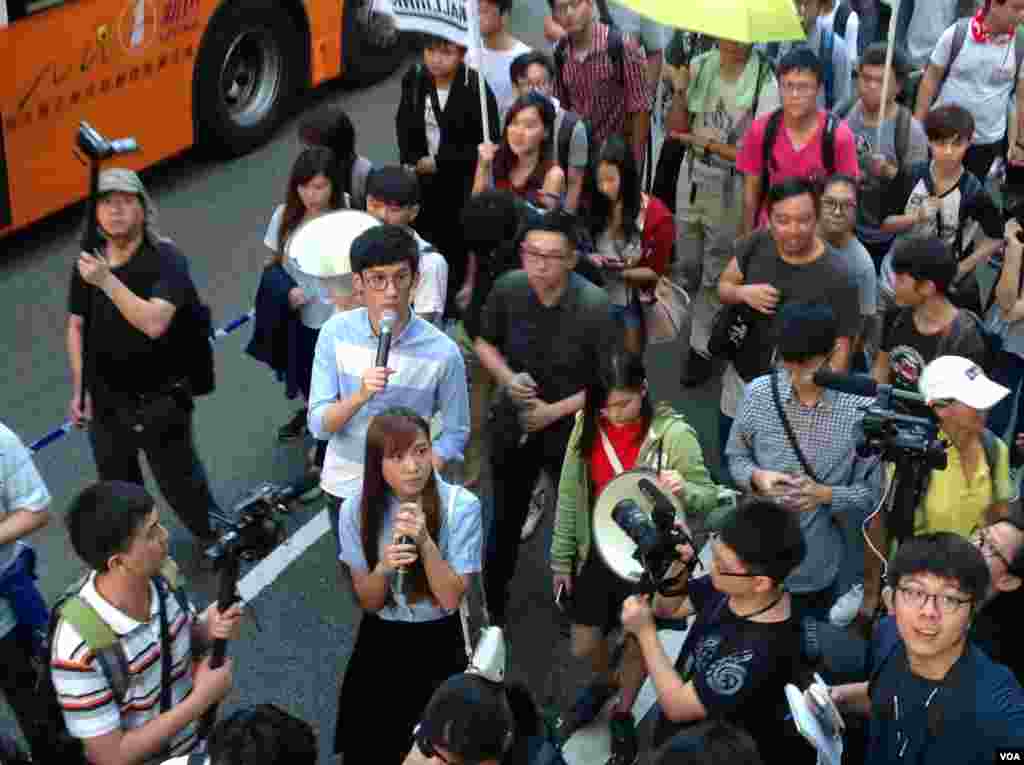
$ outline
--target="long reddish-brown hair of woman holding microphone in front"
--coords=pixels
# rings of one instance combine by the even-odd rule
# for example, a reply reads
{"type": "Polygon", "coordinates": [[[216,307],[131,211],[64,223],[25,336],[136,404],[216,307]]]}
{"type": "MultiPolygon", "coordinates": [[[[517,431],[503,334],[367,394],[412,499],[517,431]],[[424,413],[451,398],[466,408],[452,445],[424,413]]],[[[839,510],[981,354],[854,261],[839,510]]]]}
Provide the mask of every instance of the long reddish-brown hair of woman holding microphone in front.
{"type": "MultiPolygon", "coordinates": [[[[371,570],[377,566],[380,559],[381,525],[391,495],[391,487],[384,479],[384,460],[404,455],[420,435],[426,436],[427,440],[430,439],[430,424],[416,412],[404,407],[393,407],[381,412],[370,421],[370,427],[367,429],[359,526],[362,554],[371,570]]],[[[436,542],[441,526],[441,503],[433,468],[430,470],[427,485],[420,495],[420,502],[426,517],[427,530],[430,533],[430,538],[436,542]]],[[[436,602],[436,598],[430,592],[422,559],[417,559],[410,568],[407,593],[411,603],[424,598],[436,602]]]]}

